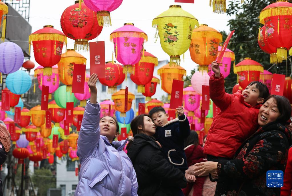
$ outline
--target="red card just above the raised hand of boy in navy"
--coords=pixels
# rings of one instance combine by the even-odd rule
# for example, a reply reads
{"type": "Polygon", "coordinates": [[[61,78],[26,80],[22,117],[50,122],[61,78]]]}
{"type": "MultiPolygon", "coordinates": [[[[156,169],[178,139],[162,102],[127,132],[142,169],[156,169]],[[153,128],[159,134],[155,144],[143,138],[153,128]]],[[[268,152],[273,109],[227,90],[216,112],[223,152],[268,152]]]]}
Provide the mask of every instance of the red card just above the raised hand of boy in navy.
{"type": "Polygon", "coordinates": [[[183,106],[183,81],[172,80],[169,108],[176,109],[183,106]]]}

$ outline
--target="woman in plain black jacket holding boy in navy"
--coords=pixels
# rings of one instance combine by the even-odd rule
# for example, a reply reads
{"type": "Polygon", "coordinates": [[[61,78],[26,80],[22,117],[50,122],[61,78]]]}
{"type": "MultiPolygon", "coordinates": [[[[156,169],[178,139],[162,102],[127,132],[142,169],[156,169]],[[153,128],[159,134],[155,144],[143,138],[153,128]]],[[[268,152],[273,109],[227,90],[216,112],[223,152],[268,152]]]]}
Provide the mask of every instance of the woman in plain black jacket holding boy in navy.
{"type": "Polygon", "coordinates": [[[155,125],[149,115],[139,115],[131,122],[134,141],[128,150],[138,181],[139,196],[173,195],[185,188],[185,175],[168,163],[155,141],[155,125]]]}

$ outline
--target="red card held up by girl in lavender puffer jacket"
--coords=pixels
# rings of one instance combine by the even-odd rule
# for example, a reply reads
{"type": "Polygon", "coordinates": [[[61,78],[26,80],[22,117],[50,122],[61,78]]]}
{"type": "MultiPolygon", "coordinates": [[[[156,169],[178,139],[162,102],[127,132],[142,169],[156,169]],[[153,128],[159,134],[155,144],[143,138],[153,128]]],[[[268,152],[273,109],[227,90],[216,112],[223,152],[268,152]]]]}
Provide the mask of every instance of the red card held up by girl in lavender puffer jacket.
{"type": "Polygon", "coordinates": [[[105,78],[105,41],[89,42],[90,75],[105,78]]]}

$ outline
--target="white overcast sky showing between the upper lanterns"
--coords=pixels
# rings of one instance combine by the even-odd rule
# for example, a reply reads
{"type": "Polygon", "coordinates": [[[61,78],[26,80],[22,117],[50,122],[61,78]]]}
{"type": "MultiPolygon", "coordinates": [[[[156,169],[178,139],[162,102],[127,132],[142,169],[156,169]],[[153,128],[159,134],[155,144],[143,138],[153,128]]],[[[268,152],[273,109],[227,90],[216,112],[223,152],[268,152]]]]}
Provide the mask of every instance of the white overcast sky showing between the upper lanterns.
{"type": "MultiPolygon", "coordinates": [[[[70,5],[74,4],[74,0],[30,0],[30,19],[32,32],[43,28],[44,25],[53,25],[55,29],[62,31],[60,26],[60,17],[63,11],[70,5]]],[[[109,41],[109,34],[115,29],[122,27],[126,22],[132,22],[135,27],[140,28],[148,35],[148,41],[144,44],[147,52],[152,53],[158,60],[169,60],[169,56],[162,50],[159,39],[154,43],[155,29],[152,28],[152,20],[160,13],[166,11],[170,5],[178,4],[182,9],[194,15],[199,24],[208,24],[218,31],[225,30],[229,32],[227,21],[229,17],[226,14],[215,14],[209,7],[209,0],[195,0],[195,3],[174,3],[174,0],[124,0],[119,8],[110,13],[112,26],[104,27],[97,39],[92,41],[105,41],[105,59],[111,60],[113,43],[109,41]]],[[[67,38],[67,49],[74,48],[74,40],[67,38]]],[[[63,48],[63,53],[65,47],[63,48]]],[[[89,52],[81,52],[87,58],[86,68],[89,68],[89,52]]],[[[33,46],[31,48],[31,60],[33,57],[33,46]]],[[[114,59],[115,60],[115,59],[114,59]]],[[[35,61],[34,61],[35,62],[35,61]]],[[[36,62],[35,62],[36,63],[36,62]]],[[[185,62],[180,64],[187,70],[190,75],[191,70],[197,67],[191,58],[190,52],[185,53],[185,62]]],[[[39,65],[36,63],[35,67],[39,65]]],[[[33,71],[31,72],[33,74],[33,71]]]]}

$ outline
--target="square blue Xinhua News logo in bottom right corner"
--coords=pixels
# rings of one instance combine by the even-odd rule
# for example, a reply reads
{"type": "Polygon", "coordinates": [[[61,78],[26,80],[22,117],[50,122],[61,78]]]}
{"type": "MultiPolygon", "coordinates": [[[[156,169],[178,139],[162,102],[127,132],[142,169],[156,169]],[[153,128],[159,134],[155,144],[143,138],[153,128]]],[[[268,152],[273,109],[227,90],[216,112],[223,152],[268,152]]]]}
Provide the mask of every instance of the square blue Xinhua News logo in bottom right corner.
{"type": "Polygon", "coordinates": [[[284,185],[284,172],[281,170],[267,171],[267,187],[281,188],[284,185]]]}

